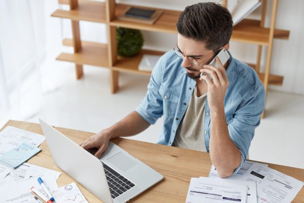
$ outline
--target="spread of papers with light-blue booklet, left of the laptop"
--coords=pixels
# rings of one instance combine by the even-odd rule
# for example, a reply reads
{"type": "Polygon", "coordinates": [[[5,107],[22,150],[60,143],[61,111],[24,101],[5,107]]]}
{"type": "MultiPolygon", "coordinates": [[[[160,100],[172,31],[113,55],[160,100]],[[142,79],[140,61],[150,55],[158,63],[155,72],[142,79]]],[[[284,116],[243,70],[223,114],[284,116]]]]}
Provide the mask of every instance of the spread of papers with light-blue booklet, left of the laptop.
{"type": "Polygon", "coordinates": [[[58,188],[56,180],[60,172],[45,167],[23,163],[40,151],[37,148],[45,140],[44,136],[12,126],[0,132],[0,202],[37,203],[30,188],[35,187],[47,196],[37,178],[42,178],[57,203],[87,203],[75,183],[58,188]],[[22,164],[23,163],[23,164],[22,164]],[[9,167],[8,167],[9,166],[9,167]],[[13,168],[11,168],[14,167],[13,168]]]}

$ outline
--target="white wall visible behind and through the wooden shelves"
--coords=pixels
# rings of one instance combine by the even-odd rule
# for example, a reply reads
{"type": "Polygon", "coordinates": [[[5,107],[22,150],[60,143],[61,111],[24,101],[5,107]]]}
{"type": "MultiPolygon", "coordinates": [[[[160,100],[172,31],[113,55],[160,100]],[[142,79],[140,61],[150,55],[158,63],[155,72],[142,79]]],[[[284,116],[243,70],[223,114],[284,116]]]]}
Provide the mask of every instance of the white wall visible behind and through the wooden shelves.
{"type": "MultiPolygon", "coordinates": [[[[57,0],[54,0],[57,1],[57,0]]],[[[188,0],[124,0],[117,1],[126,4],[167,8],[182,11],[184,7],[196,4],[202,1],[188,0]]],[[[272,1],[268,1],[268,11],[265,19],[265,25],[269,26],[271,20],[272,1]]],[[[296,94],[304,94],[304,40],[302,32],[304,28],[301,21],[304,20],[304,1],[291,0],[279,1],[276,27],[290,30],[289,40],[274,41],[271,74],[284,76],[283,86],[272,86],[270,89],[285,91],[296,94]]],[[[260,8],[254,11],[249,17],[258,18],[260,8]]],[[[63,36],[71,37],[69,20],[63,21],[63,36]]],[[[144,35],[144,48],[167,51],[172,49],[176,43],[176,35],[160,32],[142,31],[144,35]]],[[[106,42],[105,26],[100,23],[81,22],[81,36],[83,40],[106,42]]],[[[255,63],[257,45],[231,42],[230,51],[234,57],[245,62],[255,63]]],[[[265,64],[267,47],[262,49],[261,70],[265,64]]]]}

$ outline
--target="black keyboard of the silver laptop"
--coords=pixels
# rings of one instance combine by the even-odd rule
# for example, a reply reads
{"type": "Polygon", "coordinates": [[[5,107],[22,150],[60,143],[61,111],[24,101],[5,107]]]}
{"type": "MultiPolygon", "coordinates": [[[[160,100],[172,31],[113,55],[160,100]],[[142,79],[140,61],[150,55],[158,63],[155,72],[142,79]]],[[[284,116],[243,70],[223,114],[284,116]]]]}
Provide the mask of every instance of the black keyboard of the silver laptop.
{"type": "Polygon", "coordinates": [[[106,180],[110,189],[110,193],[113,199],[135,186],[131,181],[129,181],[116,171],[112,170],[112,168],[110,168],[108,165],[103,162],[102,164],[106,180]]]}

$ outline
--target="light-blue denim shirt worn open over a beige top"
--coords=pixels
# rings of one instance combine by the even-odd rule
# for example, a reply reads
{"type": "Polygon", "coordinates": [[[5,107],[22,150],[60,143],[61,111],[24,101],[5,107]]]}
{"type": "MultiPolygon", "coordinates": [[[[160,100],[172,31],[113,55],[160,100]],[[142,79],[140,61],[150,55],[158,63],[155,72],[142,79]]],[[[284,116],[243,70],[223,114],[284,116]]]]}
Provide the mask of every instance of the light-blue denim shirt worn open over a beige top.
{"type": "MultiPolygon", "coordinates": [[[[230,54],[230,53],[229,53],[230,54]]],[[[180,59],[173,50],[157,62],[148,84],[146,96],[136,112],[149,124],[164,116],[159,144],[171,146],[178,125],[187,109],[196,80],[186,75],[180,59]]],[[[254,129],[260,123],[265,105],[265,90],[256,72],[249,65],[230,57],[226,69],[230,84],[224,99],[224,111],[231,140],[239,148],[242,163],[246,160],[254,129]]],[[[206,99],[204,140],[209,152],[210,109],[206,99]]]]}

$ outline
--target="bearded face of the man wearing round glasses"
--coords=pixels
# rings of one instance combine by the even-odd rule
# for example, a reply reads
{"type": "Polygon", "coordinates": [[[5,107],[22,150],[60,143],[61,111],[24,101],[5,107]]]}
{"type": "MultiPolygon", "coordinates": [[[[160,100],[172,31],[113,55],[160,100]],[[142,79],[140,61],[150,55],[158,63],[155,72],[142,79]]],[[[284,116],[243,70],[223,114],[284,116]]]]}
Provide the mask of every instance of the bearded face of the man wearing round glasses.
{"type": "Polygon", "coordinates": [[[214,57],[213,50],[206,49],[204,42],[185,38],[179,33],[177,35],[177,48],[184,55],[192,57],[200,62],[199,65],[195,65],[190,58],[183,58],[181,66],[186,69],[187,76],[192,79],[200,78],[200,70],[203,69],[203,65],[208,64],[214,57]]]}

